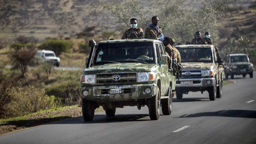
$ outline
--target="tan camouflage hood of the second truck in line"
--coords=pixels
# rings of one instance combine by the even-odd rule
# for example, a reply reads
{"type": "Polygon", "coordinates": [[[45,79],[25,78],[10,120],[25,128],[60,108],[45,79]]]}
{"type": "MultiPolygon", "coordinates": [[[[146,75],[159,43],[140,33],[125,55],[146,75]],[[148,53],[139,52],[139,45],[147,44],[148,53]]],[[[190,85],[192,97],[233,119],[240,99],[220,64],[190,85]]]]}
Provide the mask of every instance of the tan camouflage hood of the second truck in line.
{"type": "Polygon", "coordinates": [[[212,69],[213,63],[205,62],[183,62],[183,69],[212,69]]]}

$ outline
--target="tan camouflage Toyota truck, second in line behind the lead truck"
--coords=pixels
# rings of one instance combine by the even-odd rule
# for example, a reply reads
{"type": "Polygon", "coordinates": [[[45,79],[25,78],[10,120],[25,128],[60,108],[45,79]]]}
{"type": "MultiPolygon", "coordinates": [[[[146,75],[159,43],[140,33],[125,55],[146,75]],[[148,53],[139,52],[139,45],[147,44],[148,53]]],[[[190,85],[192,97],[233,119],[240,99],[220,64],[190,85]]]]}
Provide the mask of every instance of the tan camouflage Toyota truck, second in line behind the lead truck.
{"type": "Polygon", "coordinates": [[[176,97],[181,99],[189,91],[208,91],[210,100],[221,98],[224,68],[217,62],[213,45],[175,46],[181,56],[182,77],[176,84],[176,97]]]}

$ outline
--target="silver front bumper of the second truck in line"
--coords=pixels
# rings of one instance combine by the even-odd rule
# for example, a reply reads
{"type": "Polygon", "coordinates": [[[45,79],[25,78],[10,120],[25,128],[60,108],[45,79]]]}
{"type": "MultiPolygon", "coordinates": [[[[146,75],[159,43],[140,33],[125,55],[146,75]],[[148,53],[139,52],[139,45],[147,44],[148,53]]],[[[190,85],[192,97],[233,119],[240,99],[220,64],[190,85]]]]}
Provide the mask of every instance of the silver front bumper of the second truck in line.
{"type": "MultiPolygon", "coordinates": [[[[177,81],[178,79],[176,79],[177,81]]],[[[176,87],[209,87],[215,85],[216,81],[214,77],[211,78],[181,78],[176,84],[176,87]],[[181,82],[193,81],[193,84],[182,85],[181,82]],[[207,81],[211,81],[210,84],[207,84],[207,81]]]]}

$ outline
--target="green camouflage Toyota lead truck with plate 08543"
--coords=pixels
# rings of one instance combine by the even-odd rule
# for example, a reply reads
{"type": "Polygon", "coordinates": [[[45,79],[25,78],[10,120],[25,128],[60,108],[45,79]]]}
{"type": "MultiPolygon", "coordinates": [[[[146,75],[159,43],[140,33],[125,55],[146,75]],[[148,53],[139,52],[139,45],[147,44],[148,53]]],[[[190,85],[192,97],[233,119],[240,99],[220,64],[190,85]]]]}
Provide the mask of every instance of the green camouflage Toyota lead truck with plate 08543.
{"type": "Polygon", "coordinates": [[[168,68],[164,45],[159,40],[90,40],[91,52],[79,89],[84,121],[92,121],[100,106],[107,116],[116,108],[148,106],[149,117],[157,120],[172,112],[175,76],[168,68]]]}

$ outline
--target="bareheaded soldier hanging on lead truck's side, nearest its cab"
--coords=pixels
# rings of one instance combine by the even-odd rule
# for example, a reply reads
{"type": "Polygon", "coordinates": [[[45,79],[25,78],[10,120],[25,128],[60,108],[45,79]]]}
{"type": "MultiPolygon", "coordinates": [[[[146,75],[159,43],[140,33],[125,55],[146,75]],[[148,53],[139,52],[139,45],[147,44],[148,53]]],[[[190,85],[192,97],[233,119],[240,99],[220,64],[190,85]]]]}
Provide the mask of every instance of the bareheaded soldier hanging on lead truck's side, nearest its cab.
{"type": "Polygon", "coordinates": [[[164,37],[163,44],[164,44],[164,49],[167,55],[168,67],[169,69],[172,69],[172,58],[173,58],[174,52],[173,52],[172,46],[170,45],[170,42],[171,42],[170,37],[164,37]]]}

